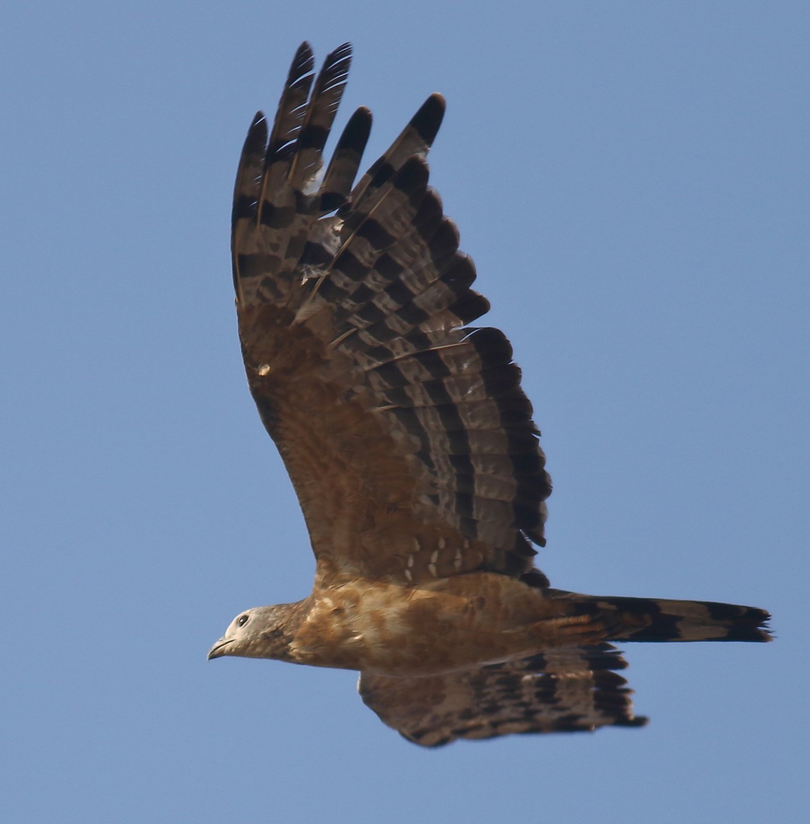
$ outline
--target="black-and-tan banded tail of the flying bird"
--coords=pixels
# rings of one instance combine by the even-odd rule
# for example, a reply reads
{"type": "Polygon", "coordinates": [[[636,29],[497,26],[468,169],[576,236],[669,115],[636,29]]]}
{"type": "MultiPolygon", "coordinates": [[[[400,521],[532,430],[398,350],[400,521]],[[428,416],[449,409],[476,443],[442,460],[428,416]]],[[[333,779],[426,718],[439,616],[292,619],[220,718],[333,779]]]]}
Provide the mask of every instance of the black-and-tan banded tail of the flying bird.
{"type": "Polygon", "coordinates": [[[608,641],[770,641],[770,615],[756,606],[663,598],[589,597],[560,593],[592,615],[608,641]]]}

